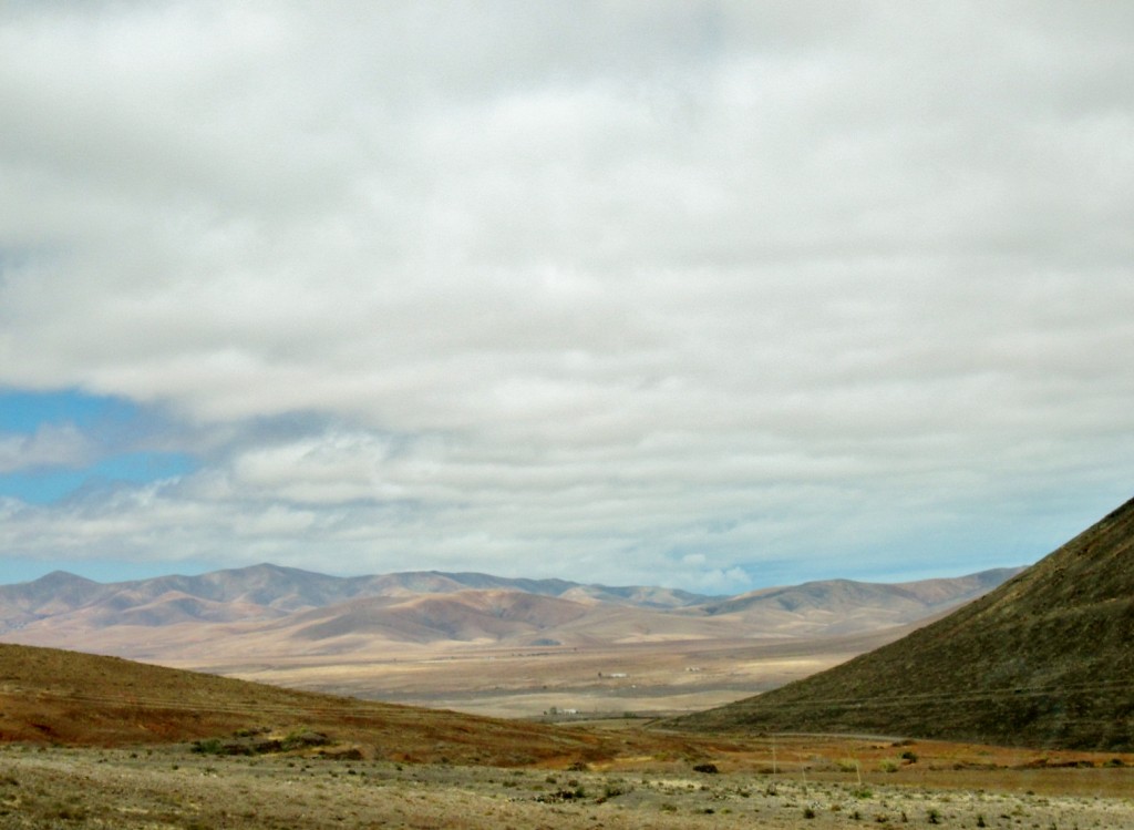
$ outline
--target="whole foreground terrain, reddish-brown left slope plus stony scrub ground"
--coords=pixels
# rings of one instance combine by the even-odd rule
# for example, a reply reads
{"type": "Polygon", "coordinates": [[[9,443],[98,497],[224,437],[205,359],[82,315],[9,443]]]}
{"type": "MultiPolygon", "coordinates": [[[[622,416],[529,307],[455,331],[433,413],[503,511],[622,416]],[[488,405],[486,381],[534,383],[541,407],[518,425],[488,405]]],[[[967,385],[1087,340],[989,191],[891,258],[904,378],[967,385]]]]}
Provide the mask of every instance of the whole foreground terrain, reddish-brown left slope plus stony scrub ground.
{"type": "Polygon", "coordinates": [[[0,828],[1134,827],[1134,755],[569,727],[0,645],[0,828]]]}

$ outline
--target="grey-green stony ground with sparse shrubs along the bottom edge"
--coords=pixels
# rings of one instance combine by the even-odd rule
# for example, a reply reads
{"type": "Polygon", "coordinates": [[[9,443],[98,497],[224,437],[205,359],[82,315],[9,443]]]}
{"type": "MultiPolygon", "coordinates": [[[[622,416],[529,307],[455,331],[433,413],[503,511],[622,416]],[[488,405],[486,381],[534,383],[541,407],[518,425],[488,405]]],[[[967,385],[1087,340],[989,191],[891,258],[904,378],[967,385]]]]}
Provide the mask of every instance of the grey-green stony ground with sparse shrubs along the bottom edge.
{"type": "Polygon", "coordinates": [[[1129,769],[1112,771],[1123,778],[1109,779],[1106,796],[1068,796],[1050,786],[997,791],[995,779],[988,789],[957,789],[858,783],[854,773],[832,781],[804,770],[713,772],[704,763],[509,770],[201,748],[2,747],[0,828],[1134,827],[1129,769]]]}

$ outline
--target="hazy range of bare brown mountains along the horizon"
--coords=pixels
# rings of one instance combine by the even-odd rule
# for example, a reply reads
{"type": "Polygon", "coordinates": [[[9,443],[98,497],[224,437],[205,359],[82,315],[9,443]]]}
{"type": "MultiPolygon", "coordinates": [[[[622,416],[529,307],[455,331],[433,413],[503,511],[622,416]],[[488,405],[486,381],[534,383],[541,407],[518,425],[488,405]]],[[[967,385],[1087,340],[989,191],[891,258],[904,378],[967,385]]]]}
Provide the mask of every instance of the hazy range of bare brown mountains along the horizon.
{"type": "Polygon", "coordinates": [[[706,597],[484,573],[340,578],[272,564],[108,585],[57,571],[0,587],[0,637],[156,662],[220,651],[373,654],[397,644],[832,637],[926,619],[1012,573],[900,585],[830,580],[706,597]]]}

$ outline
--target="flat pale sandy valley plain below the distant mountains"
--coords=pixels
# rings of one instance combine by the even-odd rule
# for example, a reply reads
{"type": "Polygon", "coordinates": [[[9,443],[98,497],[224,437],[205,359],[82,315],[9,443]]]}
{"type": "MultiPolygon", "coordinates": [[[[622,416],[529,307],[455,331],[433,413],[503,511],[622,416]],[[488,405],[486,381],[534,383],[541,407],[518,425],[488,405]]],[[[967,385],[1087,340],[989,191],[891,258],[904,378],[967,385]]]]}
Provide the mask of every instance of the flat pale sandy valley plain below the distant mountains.
{"type": "Polygon", "coordinates": [[[674,639],[578,647],[413,646],[387,653],[167,662],[274,686],[496,718],[660,716],[748,697],[805,677],[908,628],[819,639],[674,639]]]}

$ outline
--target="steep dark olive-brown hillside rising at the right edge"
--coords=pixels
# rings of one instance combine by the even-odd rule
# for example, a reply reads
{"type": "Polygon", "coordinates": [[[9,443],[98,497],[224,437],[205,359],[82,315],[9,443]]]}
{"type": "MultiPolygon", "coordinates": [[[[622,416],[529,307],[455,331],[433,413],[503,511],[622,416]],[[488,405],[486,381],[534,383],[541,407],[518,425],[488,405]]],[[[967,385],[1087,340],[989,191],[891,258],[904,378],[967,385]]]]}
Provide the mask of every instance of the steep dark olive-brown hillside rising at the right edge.
{"type": "Polygon", "coordinates": [[[675,726],[1134,749],[1134,500],[933,624],[675,726]]]}

